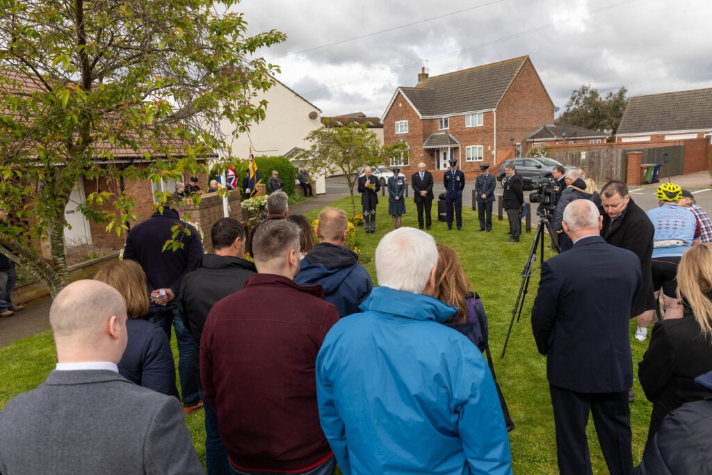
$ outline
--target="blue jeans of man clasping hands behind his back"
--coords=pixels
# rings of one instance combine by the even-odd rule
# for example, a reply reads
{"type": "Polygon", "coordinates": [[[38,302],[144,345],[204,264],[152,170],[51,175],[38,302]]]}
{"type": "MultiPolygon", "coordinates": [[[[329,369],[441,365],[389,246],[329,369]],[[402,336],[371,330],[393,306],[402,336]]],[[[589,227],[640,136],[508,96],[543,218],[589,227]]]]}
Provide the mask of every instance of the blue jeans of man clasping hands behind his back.
{"type": "Polygon", "coordinates": [[[181,400],[184,406],[194,406],[198,404],[198,380],[193,371],[193,335],[184,327],[180,319],[178,301],[173,299],[166,306],[151,303],[148,311],[148,321],[163,328],[171,339],[171,323],[176,330],[176,340],[178,343],[178,375],[180,377],[181,400]]]}

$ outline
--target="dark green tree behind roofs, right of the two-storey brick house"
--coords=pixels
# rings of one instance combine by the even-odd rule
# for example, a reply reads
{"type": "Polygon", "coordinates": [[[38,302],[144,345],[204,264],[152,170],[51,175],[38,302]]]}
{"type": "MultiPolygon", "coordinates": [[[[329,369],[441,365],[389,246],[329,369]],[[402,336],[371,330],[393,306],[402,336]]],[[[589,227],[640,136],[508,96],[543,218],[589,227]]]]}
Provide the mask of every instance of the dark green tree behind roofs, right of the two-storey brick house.
{"type": "Polygon", "coordinates": [[[582,84],[572,91],[559,122],[615,135],[628,104],[627,93],[628,90],[621,87],[603,97],[590,84],[582,84]]]}

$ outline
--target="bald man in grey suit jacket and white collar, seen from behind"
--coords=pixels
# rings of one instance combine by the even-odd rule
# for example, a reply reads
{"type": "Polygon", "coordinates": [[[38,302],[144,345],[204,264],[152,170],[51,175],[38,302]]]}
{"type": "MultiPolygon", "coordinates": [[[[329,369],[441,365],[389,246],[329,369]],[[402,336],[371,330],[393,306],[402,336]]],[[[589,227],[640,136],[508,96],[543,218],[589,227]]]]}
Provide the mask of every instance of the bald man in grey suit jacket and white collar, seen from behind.
{"type": "Polygon", "coordinates": [[[126,306],[98,281],[52,303],[58,363],[0,412],[3,474],[203,474],[180,403],[120,376],[126,306]]]}

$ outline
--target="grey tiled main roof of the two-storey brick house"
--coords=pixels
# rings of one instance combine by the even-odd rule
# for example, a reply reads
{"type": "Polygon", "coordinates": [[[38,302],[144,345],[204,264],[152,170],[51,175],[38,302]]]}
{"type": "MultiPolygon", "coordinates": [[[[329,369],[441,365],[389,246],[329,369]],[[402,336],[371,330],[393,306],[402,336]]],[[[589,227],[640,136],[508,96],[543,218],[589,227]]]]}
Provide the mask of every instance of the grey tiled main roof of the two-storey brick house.
{"type": "Polygon", "coordinates": [[[449,115],[496,108],[528,56],[464,69],[400,88],[421,115],[449,115]]]}

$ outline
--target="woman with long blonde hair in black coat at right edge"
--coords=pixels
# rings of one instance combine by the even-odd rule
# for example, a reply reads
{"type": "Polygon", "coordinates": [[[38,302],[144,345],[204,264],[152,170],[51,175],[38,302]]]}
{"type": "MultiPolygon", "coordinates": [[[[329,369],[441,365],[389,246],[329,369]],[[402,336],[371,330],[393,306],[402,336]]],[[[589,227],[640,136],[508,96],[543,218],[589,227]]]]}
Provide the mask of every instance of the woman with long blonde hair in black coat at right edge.
{"type": "Polygon", "coordinates": [[[655,324],[638,363],[640,385],[653,403],[647,444],[669,412],[706,397],[694,379],[712,370],[712,244],[685,251],[677,269],[677,293],[684,315],[655,324]]]}

